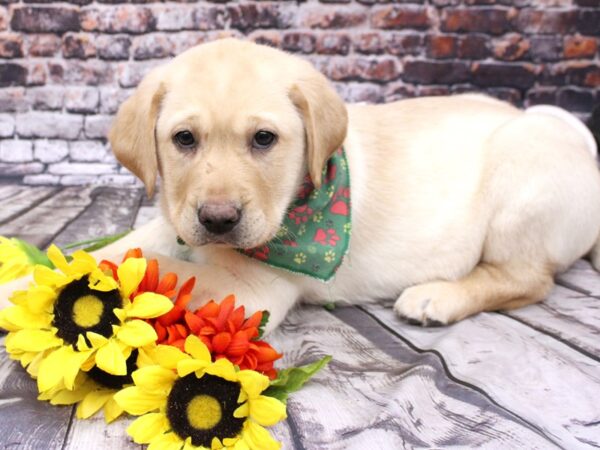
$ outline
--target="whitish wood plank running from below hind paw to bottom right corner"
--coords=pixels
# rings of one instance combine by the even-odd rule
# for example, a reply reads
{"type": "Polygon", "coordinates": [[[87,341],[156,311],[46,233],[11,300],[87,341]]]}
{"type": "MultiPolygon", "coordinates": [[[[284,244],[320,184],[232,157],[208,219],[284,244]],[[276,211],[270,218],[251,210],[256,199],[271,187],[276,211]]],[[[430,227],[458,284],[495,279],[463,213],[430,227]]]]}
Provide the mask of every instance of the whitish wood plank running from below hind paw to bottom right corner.
{"type": "Polygon", "coordinates": [[[449,327],[400,322],[364,310],[416,347],[438,352],[456,377],[485,390],[564,448],[600,446],[600,363],[508,317],[482,313],[449,327]]]}

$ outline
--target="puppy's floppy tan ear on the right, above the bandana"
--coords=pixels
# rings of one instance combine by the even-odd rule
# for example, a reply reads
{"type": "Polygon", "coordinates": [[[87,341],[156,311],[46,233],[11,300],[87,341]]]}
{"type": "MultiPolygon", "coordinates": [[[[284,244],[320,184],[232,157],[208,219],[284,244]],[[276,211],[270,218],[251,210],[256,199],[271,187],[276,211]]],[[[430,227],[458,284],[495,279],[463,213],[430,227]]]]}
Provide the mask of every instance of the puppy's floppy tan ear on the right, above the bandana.
{"type": "Polygon", "coordinates": [[[308,172],[313,184],[321,187],[325,163],[346,138],[346,106],[327,78],[313,68],[292,86],[290,97],[304,119],[308,172]]]}

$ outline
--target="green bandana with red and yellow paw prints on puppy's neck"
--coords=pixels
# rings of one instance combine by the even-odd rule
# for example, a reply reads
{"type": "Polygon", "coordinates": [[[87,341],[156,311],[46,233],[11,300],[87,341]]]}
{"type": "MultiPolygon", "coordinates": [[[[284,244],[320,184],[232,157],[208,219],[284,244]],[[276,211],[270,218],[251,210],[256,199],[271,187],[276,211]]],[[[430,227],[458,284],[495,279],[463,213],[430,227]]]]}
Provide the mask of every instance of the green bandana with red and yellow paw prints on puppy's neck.
{"type": "Polygon", "coordinates": [[[239,250],[274,267],[329,281],[342,264],[350,243],[350,171],[343,149],[323,170],[315,189],[306,176],[277,236],[257,248],[239,250]]]}

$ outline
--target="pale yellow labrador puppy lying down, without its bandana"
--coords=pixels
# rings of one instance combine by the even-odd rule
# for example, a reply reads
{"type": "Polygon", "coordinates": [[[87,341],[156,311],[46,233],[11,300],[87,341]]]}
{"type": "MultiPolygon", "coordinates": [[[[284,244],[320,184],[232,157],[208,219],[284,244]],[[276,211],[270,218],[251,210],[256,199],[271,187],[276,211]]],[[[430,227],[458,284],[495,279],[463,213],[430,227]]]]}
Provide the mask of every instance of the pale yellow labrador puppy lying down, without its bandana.
{"type": "Polygon", "coordinates": [[[346,105],[308,62],[234,39],[155,69],[121,106],[115,155],[163,217],[131,246],[199,277],[198,301],[231,292],[276,326],[295,302],[397,298],[411,323],[449,324],[539,302],[592,251],[600,268],[600,175],[589,131],[558,108],[480,95],[346,105]],[[276,239],[306,174],[324,182],[343,147],[352,236],[328,283],[242,254],[276,239]],[[187,246],[177,244],[179,236],[187,246]]]}

